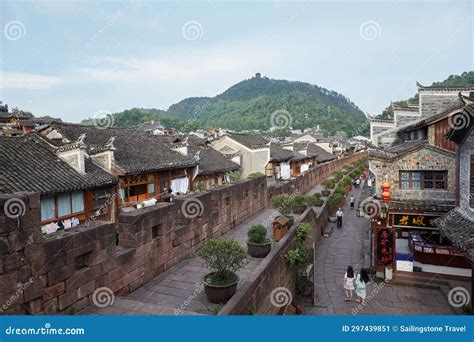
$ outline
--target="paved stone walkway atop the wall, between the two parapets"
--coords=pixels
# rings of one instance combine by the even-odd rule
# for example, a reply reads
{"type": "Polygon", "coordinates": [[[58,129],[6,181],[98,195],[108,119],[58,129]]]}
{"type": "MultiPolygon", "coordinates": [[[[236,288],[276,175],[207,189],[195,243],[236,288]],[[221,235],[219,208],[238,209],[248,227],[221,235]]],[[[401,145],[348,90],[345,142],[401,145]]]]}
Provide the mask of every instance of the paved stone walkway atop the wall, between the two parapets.
{"type": "MultiPolygon", "coordinates": [[[[265,209],[225,234],[247,248],[247,231],[254,224],[268,221],[275,211],[265,209]]],[[[271,227],[267,227],[271,236],[271,227]]],[[[248,264],[238,272],[242,283],[263,259],[248,256],[248,264]]],[[[219,304],[210,303],[202,287],[202,278],[209,270],[197,256],[183,260],[126,297],[116,296],[112,305],[91,306],[84,315],[215,315],[219,304]]]]}

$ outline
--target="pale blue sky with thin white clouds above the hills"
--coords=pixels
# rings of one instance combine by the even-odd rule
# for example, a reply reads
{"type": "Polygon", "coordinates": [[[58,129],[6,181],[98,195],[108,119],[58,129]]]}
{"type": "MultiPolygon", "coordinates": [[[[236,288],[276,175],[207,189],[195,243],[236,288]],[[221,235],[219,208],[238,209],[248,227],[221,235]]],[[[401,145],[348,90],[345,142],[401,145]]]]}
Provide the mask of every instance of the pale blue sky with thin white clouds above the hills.
{"type": "Polygon", "coordinates": [[[474,70],[473,1],[0,0],[0,100],[80,122],[167,109],[256,72],[364,112],[474,70]]]}

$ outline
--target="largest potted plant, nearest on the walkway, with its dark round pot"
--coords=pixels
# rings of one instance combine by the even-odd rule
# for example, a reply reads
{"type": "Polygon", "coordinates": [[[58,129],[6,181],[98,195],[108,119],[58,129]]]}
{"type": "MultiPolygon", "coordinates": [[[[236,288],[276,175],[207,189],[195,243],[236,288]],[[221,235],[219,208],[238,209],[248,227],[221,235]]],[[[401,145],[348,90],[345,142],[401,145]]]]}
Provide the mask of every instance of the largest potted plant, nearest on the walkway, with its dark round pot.
{"type": "Polygon", "coordinates": [[[232,239],[207,240],[198,255],[212,272],[203,278],[204,291],[212,303],[229,300],[237,291],[237,271],[247,264],[247,253],[232,239]]]}

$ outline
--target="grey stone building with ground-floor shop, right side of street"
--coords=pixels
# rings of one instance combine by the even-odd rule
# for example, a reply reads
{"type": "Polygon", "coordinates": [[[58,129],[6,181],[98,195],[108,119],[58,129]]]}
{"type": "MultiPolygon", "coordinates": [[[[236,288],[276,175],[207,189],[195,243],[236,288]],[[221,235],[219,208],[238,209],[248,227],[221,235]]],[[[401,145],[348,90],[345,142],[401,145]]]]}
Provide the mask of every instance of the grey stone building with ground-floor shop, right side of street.
{"type": "MultiPolygon", "coordinates": [[[[459,202],[459,192],[465,194],[465,198],[473,195],[469,185],[472,175],[468,171],[472,167],[469,158],[473,146],[469,143],[472,105],[459,90],[454,101],[451,88],[419,88],[422,115],[387,130],[387,139],[383,132],[378,133],[376,141],[380,145],[390,145],[369,150],[369,169],[375,178],[373,191],[381,196],[383,184],[391,186],[390,200],[387,204],[378,204],[379,208],[386,208],[386,215],[372,220],[372,236],[377,238],[382,232],[393,236],[394,241],[390,257],[386,260],[376,258],[374,264],[380,274],[385,265],[390,264],[395,271],[470,278],[470,258],[457,248],[460,246],[457,234],[462,230],[465,243],[472,242],[473,235],[466,235],[466,227],[472,229],[470,220],[474,215],[471,215],[469,201],[464,202],[461,209],[454,208],[459,202]],[[469,129],[453,133],[459,115],[464,115],[467,125],[463,126],[469,129]],[[462,134],[458,133],[461,131],[462,134]],[[460,162],[459,168],[456,160],[460,162]],[[458,169],[462,172],[460,176],[458,169]],[[449,213],[452,213],[453,221],[448,220],[443,230],[438,222],[449,213]]],[[[397,116],[397,120],[400,117],[397,116]]],[[[378,242],[374,241],[373,246],[373,255],[380,256],[378,242]]],[[[470,247],[464,245],[463,248],[470,247]]]]}

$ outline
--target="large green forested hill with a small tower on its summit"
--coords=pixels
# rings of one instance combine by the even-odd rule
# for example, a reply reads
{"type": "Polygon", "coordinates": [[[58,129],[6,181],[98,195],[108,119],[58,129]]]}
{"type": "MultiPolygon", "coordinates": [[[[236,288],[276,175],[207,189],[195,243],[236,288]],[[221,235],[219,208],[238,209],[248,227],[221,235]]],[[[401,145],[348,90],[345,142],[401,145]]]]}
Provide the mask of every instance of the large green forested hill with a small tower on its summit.
{"type": "Polygon", "coordinates": [[[304,82],[252,77],[235,84],[215,97],[192,97],[166,111],[132,109],[115,114],[115,125],[136,125],[161,119],[176,128],[223,127],[236,131],[267,130],[270,116],[277,110],[288,111],[295,129],[319,124],[322,129],[351,135],[366,119],[347,97],[304,82]],[[189,122],[192,121],[190,125],[189,122]]]}

